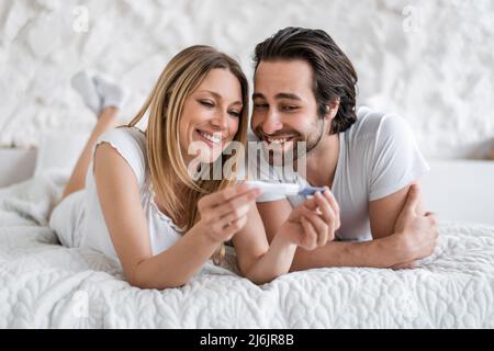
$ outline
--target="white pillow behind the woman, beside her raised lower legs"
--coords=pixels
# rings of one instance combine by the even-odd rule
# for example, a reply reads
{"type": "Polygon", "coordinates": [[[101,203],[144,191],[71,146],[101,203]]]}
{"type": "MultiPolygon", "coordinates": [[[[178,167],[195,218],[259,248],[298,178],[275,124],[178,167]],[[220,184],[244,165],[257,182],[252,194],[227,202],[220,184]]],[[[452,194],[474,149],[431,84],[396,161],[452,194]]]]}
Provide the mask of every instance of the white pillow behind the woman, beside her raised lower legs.
{"type": "Polygon", "coordinates": [[[40,139],[34,176],[53,171],[70,174],[88,141],[88,133],[46,132],[40,139]]]}

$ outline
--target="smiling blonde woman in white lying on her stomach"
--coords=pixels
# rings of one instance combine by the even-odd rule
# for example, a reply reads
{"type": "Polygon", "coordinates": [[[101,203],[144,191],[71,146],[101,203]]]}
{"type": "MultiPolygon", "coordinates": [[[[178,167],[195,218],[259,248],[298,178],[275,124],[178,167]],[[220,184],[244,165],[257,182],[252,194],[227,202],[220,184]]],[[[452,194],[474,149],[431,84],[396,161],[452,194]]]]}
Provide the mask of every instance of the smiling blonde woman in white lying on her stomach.
{"type": "Polygon", "coordinates": [[[179,53],[125,127],[113,128],[124,98],[117,86],[86,73],[72,82],[99,118],[50,218],[61,244],[116,259],[132,285],[166,288],[183,285],[211,257],[221,261],[229,240],[240,273],[261,284],[289,271],[296,246],[328,239],[304,234],[308,222],[321,224],[323,196],[307,208],[308,222],[289,218],[269,245],[258,190],[189,174],[192,143],[204,146],[199,157],[207,165],[228,158],[221,152],[228,143],[246,141],[248,83],[227,55],[209,46],[179,53]],[[135,125],[146,113],[143,133],[135,125]]]}

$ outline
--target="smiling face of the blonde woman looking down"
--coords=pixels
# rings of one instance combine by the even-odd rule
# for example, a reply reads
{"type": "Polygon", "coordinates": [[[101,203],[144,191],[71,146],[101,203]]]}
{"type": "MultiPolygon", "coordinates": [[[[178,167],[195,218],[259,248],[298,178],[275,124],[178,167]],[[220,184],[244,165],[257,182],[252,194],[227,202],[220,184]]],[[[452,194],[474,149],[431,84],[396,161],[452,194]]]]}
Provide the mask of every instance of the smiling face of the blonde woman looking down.
{"type": "Polygon", "coordinates": [[[214,162],[234,139],[242,109],[238,79],[227,69],[212,69],[183,104],[179,140],[186,165],[195,158],[214,162]]]}

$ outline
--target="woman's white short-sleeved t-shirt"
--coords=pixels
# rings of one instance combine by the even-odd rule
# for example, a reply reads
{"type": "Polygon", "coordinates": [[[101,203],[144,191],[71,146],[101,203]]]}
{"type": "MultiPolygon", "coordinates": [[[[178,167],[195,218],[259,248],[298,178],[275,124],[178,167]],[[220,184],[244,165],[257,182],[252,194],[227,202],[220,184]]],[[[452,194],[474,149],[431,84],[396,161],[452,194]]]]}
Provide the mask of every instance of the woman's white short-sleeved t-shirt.
{"type": "MultiPolygon", "coordinates": [[[[149,229],[142,235],[149,236],[153,254],[167,250],[181,238],[181,231],[154,201],[144,133],[136,127],[114,128],[102,134],[96,146],[102,143],[110,144],[135,173],[149,229]]],[[[119,261],[98,199],[92,162],[86,177],[86,189],[70,194],[55,207],[50,227],[64,246],[90,248],[119,261]]]]}

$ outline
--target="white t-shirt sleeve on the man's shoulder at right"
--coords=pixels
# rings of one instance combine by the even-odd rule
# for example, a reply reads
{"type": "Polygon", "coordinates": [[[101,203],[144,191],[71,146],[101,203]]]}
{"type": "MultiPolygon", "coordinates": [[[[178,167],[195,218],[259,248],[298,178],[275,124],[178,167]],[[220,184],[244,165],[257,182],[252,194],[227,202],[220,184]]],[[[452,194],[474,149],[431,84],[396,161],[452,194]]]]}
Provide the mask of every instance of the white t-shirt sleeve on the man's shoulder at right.
{"type": "Polygon", "coordinates": [[[429,170],[412,128],[397,115],[381,121],[371,160],[369,201],[397,192],[429,170]]]}

